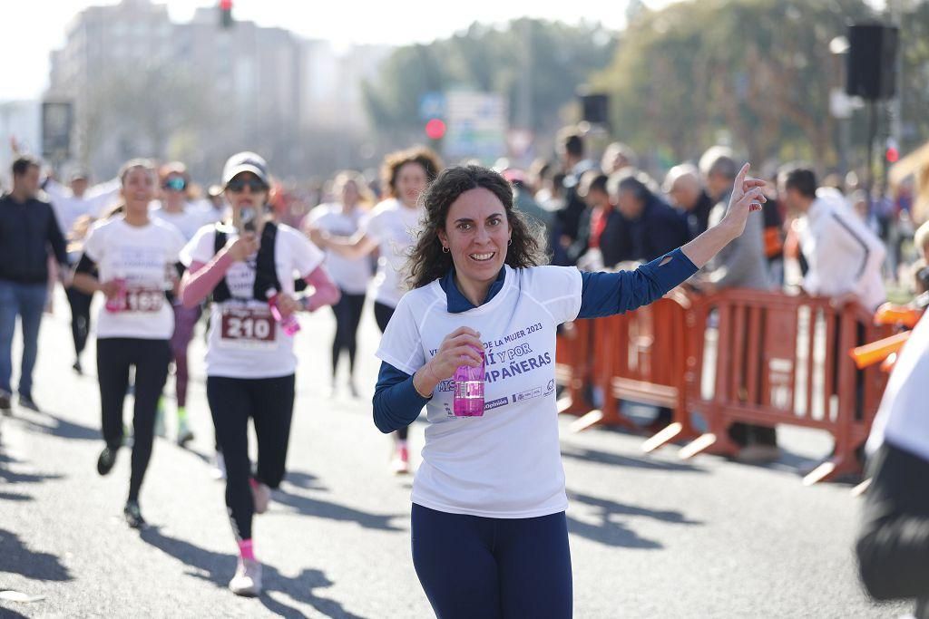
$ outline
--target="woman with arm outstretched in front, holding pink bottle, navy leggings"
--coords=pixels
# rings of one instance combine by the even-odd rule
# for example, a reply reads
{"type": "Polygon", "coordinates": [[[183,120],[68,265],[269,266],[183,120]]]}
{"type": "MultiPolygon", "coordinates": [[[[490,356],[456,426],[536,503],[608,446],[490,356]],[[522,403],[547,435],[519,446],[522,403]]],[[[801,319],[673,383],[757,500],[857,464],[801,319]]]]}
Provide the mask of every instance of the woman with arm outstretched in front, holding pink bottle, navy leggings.
{"type": "Polygon", "coordinates": [[[540,266],[539,241],[504,178],[438,175],[410,258],[411,288],[381,340],[374,422],[426,407],[412,489],[412,558],[438,617],[569,617],[571,566],[555,398],[556,327],[651,303],[730,240],[764,185],[746,164],[724,220],[635,272],[540,266]],[[455,417],[456,368],[486,359],[484,414],[455,417]]]}

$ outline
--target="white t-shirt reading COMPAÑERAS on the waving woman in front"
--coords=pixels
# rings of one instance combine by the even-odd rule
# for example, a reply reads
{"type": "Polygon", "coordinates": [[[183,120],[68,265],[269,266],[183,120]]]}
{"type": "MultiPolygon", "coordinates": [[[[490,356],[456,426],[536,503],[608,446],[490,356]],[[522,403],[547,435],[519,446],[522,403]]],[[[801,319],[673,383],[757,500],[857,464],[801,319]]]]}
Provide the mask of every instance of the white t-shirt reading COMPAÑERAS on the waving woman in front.
{"type": "Polygon", "coordinates": [[[408,374],[459,327],[480,332],[486,356],[484,416],[456,418],[453,380],[426,405],[423,464],[412,501],[489,518],[534,518],[568,508],[558,447],[556,326],[581,310],[572,266],[506,267],[503,288],[460,314],[447,311],[438,281],[403,296],[376,355],[408,374]]]}

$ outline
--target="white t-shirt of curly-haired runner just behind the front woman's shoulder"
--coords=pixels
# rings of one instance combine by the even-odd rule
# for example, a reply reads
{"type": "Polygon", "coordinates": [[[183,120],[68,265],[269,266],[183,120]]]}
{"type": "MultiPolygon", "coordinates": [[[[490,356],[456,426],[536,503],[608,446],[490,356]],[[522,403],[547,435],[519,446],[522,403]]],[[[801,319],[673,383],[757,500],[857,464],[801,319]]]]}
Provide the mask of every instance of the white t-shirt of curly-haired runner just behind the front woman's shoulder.
{"type": "Polygon", "coordinates": [[[377,277],[374,277],[374,301],[390,307],[400,302],[406,291],[402,270],[423,213],[422,207],[408,209],[391,198],[375,206],[371,216],[361,224],[362,232],[377,241],[381,251],[377,259],[377,277]]]}

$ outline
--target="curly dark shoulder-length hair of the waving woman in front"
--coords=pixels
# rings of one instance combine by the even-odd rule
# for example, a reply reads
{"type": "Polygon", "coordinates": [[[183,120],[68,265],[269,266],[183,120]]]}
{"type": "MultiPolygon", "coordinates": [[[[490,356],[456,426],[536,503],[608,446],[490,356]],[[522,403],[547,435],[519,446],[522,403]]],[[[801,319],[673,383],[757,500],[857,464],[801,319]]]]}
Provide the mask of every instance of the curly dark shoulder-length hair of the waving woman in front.
{"type": "Polygon", "coordinates": [[[438,174],[435,182],[425,190],[425,215],[416,245],[407,261],[407,284],[410,289],[422,288],[451,268],[451,253],[442,251],[438,230],[445,229],[451,204],[465,191],[483,187],[491,191],[504,205],[506,221],[510,226],[510,240],[505,263],[512,268],[537,266],[545,262],[542,226],[530,223],[523,213],[513,206],[513,187],[493,170],[479,165],[447,168],[438,174]]]}

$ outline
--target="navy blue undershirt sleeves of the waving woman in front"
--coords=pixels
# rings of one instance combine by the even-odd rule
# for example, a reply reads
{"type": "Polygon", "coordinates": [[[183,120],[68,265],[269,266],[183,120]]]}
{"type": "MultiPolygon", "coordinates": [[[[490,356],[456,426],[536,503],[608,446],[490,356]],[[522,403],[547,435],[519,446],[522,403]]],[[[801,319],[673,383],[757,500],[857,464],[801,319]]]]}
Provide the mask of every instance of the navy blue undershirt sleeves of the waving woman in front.
{"type": "MultiPolygon", "coordinates": [[[[648,305],[696,272],[697,266],[684,252],[674,250],[635,271],[582,273],[578,318],[613,316],[648,305]]],[[[487,301],[493,293],[491,290],[487,301]]],[[[373,398],[374,425],[378,430],[387,433],[410,425],[428,401],[416,392],[410,374],[381,362],[373,398]]]]}

